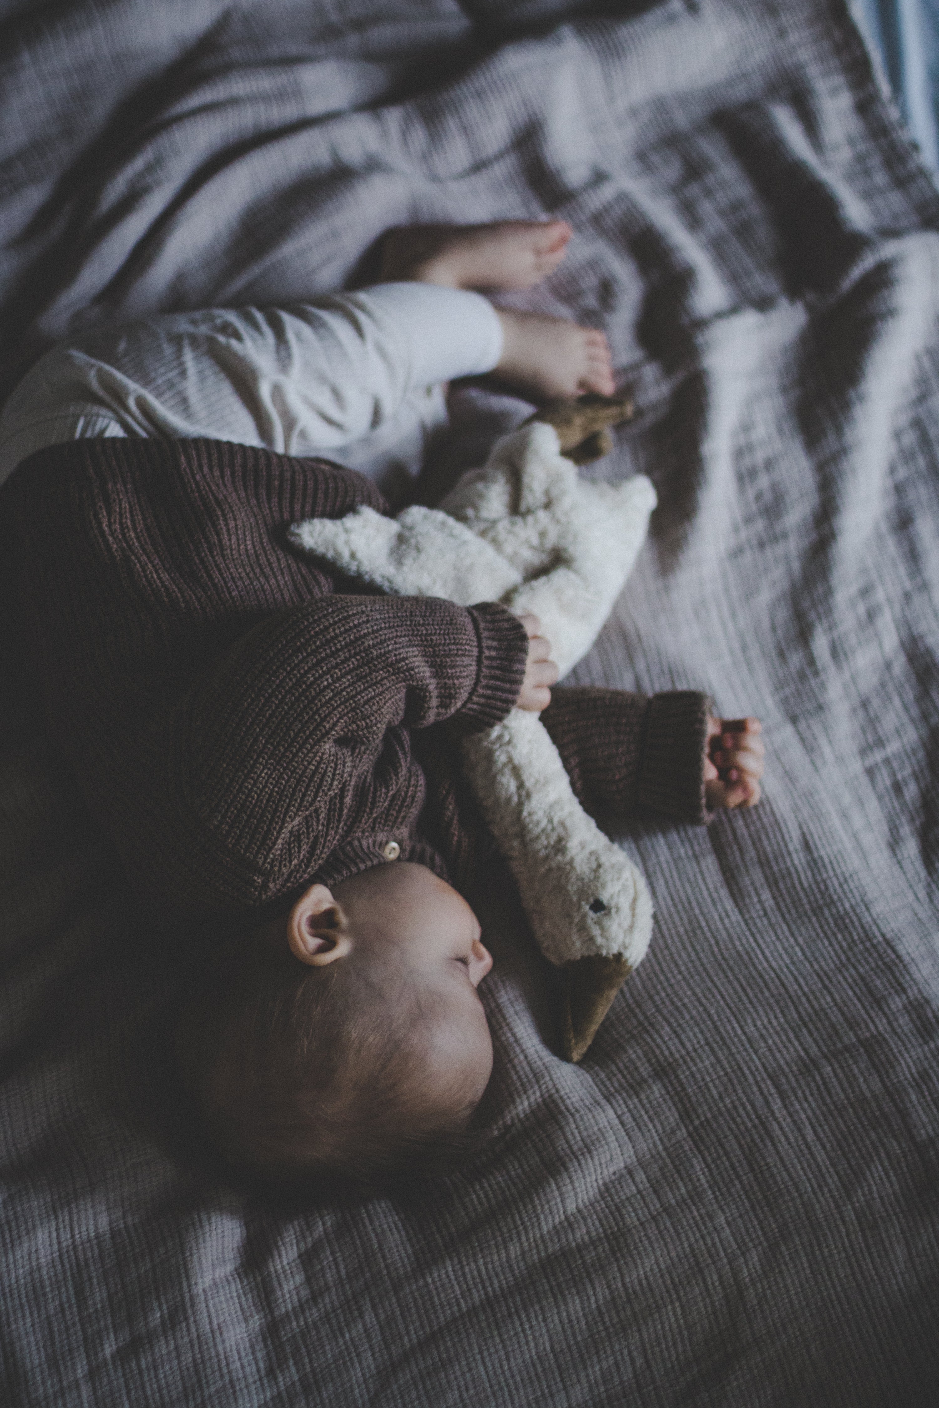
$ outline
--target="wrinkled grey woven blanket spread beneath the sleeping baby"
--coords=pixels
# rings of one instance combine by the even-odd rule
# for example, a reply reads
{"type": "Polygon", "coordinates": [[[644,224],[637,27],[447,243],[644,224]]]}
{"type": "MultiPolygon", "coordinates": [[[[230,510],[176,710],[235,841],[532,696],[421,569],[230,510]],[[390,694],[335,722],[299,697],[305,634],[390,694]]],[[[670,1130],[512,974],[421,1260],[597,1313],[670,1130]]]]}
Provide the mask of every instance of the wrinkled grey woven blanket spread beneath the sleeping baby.
{"type": "Polygon", "coordinates": [[[531,306],[607,329],[641,414],[601,472],[660,496],[577,677],[770,743],[753,814],[622,838],[656,932],[583,1066],[496,911],[493,1143],[434,1198],[275,1205],[176,1139],[172,950],[4,634],[10,1408],[939,1401],[939,197],[840,0],[590,8],[0,6],[7,390],[390,224],[563,215],[531,306]]]}

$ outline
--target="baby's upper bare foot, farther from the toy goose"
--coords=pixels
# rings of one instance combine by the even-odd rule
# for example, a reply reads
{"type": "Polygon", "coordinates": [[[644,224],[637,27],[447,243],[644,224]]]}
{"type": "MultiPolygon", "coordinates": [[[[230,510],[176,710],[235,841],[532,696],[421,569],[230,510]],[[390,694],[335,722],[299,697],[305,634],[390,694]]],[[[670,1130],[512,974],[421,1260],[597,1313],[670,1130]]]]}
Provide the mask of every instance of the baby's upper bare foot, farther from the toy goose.
{"type": "Polygon", "coordinates": [[[531,289],[560,263],[570,235],[563,220],[389,230],[382,241],[380,279],[503,293],[531,289]]]}

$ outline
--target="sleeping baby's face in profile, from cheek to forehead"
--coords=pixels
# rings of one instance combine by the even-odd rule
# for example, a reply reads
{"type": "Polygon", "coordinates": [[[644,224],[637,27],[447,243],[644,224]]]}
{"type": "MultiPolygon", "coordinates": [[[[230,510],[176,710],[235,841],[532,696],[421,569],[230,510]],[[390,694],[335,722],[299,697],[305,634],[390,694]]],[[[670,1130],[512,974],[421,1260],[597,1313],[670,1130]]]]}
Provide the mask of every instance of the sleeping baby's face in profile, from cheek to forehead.
{"type": "Polygon", "coordinates": [[[356,953],[397,990],[420,988],[425,1095],[476,1104],[493,1070],[493,1042],[477,987],[493,966],[480,924],[452,886],[407,862],[366,870],[335,887],[356,953]]]}

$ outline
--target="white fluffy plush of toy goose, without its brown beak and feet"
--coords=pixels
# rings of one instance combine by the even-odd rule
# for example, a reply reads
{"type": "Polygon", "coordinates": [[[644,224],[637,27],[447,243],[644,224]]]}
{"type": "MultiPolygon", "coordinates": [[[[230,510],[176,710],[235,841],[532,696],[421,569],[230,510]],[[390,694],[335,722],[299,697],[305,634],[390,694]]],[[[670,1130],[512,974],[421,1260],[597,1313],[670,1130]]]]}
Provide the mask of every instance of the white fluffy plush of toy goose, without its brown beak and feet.
{"type": "MultiPolygon", "coordinates": [[[[595,641],[642,546],[656,496],[643,476],[588,484],[550,425],[500,441],[441,508],[296,524],[293,541],[342,572],[401,596],[534,611],[562,677],[595,641]]],[[[466,772],[552,963],[621,955],[652,934],[642,874],[587,817],[538,715],[512,710],[463,743],[466,772]]]]}

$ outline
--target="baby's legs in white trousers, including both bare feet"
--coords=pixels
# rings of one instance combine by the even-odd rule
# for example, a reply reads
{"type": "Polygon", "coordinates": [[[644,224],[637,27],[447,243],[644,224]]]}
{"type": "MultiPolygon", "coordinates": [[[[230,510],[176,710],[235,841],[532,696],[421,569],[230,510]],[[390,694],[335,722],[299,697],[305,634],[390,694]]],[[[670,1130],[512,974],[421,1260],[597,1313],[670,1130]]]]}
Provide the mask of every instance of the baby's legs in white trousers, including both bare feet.
{"type": "Polygon", "coordinates": [[[420,451],[445,415],[428,387],[453,377],[496,370],[535,398],[611,391],[601,332],[497,311],[473,291],[536,282],[567,238],[560,221],[393,231],[391,283],[283,310],[165,314],[55,348],[0,418],[0,482],[34,451],[101,435],[351,448],[342,458],[367,473],[376,449],[420,451]]]}

